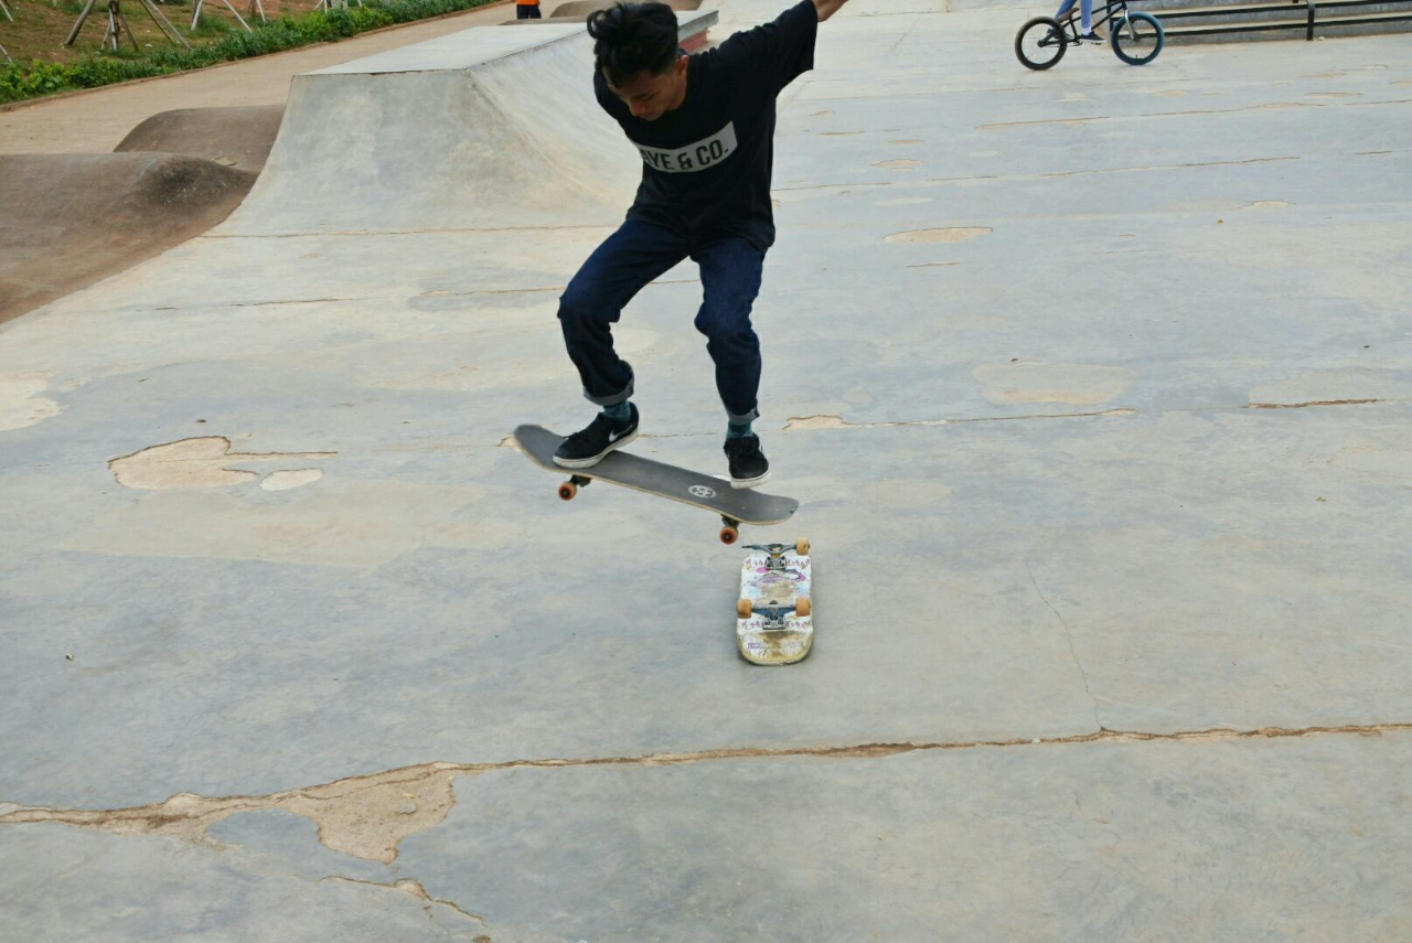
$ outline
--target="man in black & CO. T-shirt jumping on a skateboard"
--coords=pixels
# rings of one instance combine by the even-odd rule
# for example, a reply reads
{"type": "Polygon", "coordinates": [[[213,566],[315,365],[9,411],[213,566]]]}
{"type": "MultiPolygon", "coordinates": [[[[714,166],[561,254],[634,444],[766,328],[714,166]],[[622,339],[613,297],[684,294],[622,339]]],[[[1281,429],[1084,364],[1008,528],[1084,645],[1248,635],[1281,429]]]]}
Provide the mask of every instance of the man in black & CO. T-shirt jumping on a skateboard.
{"type": "Polygon", "coordinates": [[[633,367],[613,350],[623,306],[683,258],[700,265],[696,329],[726,407],[731,486],[770,477],[751,424],[760,415],[760,342],[750,309],[775,240],[770,206],[775,97],[813,68],[819,23],[847,0],[803,0],[777,20],[686,55],[676,14],[623,3],[589,16],[599,104],[642,155],[642,184],[623,226],[559,299],[559,323],[583,392],[602,412],[555,453],[566,469],[597,464],[637,436],[633,367]]]}

